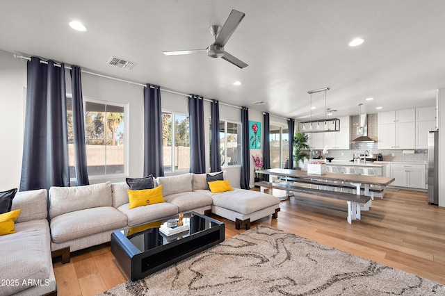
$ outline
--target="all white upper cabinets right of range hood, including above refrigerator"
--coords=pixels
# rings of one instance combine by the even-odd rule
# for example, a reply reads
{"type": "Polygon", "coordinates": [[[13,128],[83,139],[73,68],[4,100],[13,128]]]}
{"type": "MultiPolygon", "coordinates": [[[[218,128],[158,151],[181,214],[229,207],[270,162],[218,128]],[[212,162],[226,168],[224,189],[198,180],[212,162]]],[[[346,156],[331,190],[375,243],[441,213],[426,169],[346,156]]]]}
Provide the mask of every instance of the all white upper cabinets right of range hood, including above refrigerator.
{"type": "Polygon", "coordinates": [[[426,149],[435,117],[435,107],[378,113],[378,149],[426,149]]]}

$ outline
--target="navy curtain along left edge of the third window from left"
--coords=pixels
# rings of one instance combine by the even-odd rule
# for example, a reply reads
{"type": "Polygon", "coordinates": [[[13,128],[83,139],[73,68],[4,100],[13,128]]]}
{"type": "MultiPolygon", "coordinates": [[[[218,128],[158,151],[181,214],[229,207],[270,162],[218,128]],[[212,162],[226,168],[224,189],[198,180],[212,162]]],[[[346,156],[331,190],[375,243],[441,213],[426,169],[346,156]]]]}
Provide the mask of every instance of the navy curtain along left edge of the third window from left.
{"type": "Polygon", "coordinates": [[[210,172],[221,170],[220,154],[220,103],[211,101],[210,172]]]}

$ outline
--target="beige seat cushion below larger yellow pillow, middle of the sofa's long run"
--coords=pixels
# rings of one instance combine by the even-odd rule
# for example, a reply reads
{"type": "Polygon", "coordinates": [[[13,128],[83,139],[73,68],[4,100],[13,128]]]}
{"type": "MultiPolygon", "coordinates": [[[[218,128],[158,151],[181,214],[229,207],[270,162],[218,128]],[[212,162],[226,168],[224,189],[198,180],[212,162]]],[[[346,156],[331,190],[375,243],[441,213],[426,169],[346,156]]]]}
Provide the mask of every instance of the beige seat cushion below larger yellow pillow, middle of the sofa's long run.
{"type": "Polygon", "coordinates": [[[161,220],[165,217],[177,215],[178,207],[168,202],[161,204],[150,204],[149,206],[138,206],[129,209],[129,204],[122,204],[118,210],[127,215],[128,226],[133,227],[147,222],[161,220]]]}

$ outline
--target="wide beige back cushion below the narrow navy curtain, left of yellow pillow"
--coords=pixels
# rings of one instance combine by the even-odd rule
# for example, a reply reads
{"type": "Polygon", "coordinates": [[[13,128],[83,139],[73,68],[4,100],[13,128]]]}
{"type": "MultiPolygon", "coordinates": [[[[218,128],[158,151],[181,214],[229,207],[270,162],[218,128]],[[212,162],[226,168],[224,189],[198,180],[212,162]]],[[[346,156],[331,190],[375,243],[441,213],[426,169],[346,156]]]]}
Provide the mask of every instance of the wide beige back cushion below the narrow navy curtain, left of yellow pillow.
{"type": "Polygon", "coordinates": [[[86,208],[112,206],[111,182],[76,187],[49,188],[49,217],[86,208]]]}

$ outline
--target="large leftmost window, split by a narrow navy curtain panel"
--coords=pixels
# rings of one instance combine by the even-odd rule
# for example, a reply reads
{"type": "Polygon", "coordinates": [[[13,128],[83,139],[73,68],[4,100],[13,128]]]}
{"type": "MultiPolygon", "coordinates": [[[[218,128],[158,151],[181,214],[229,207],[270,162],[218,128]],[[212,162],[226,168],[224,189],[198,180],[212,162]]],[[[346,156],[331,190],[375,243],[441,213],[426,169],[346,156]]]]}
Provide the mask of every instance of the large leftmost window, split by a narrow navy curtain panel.
{"type": "MultiPolygon", "coordinates": [[[[86,100],[85,138],[88,176],[124,174],[124,106],[86,100]]],[[[68,147],[70,176],[74,177],[74,132],[72,98],[67,98],[68,147]]]]}

